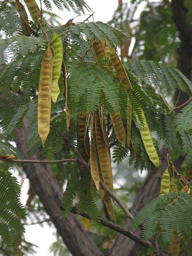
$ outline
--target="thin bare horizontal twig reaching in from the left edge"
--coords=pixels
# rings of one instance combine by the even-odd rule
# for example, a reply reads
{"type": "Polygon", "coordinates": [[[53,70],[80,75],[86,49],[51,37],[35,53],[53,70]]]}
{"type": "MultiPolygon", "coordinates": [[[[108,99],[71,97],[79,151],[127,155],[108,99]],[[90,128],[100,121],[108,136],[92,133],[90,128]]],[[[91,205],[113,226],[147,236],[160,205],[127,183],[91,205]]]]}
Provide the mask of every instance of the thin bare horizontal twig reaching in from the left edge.
{"type": "Polygon", "coordinates": [[[48,161],[48,160],[10,159],[10,158],[0,157],[0,160],[5,162],[13,162],[13,163],[33,163],[33,164],[58,164],[58,163],[77,162],[76,158],[48,161]]]}

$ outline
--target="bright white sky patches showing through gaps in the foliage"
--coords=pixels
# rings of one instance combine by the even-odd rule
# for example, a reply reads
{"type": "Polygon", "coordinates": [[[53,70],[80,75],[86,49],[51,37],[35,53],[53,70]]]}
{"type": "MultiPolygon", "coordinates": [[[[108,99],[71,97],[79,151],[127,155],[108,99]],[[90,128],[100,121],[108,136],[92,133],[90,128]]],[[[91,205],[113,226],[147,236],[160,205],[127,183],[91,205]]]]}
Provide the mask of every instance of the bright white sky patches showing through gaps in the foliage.
{"type": "MultiPolygon", "coordinates": [[[[129,1],[129,0],[127,0],[129,1]]],[[[36,0],[39,5],[39,0],[36,0]]],[[[85,2],[91,7],[94,14],[95,21],[102,21],[107,23],[113,15],[114,10],[117,8],[118,0],[85,0],[85,2]]],[[[126,0],[124,0],[126,2],[126,0]]],[[[137,16],[139,12],[143,9],[143,6],[139,8],[137,12],[137,16]]],[[[60,12],[57,8],[53,8],[52,12],[57,13],[60,17],[62,17],[62,24],[65,24],[69,19],[74,18],[76,14],[74,12],[63,11],[60,12]]],[[[81,18],[76,18],[75,22],[83,21],[86,16],[81,18]]],[[[139,172],[138,172],[138,175],[139,172]]],[[[20,178],[18,177],[20,181],[20,178]]],[[[29,183],[27,179],[24,179],[24,185],[22,187],[22,195],[21,201],[25,205],[27,199],[27,191],[28,191],[29,183]]],[[[49,228],[45,223],[44,227],[40,227],[39,225],[30,225],[25,228],[25,239],[28,242],[36,244],[39,248],[36,249],[37,256],[53,256],[52,253],[49,253],[49,246],[56,240],[55,238],[55,229],[49,228]]]]}

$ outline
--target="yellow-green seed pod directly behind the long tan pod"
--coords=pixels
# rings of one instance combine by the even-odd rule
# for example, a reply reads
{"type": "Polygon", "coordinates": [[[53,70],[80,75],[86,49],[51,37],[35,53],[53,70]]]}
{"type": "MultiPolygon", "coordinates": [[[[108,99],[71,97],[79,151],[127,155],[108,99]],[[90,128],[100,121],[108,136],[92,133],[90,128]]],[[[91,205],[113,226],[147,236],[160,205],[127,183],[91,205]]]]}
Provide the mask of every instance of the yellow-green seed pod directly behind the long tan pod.
{"type": "Polygon", "coordinates": [[[53,42],[52,46],[53,46],[54,58],[53,58],[51,97],[52,97],[52,101],[55,103],[60,94],[60,86],[58,84],[58,81],[60,79],[61,65],[63,60],[63,44],[59,35],[56,34],[54,31],[53,31],[52,42],[53,42]]]}

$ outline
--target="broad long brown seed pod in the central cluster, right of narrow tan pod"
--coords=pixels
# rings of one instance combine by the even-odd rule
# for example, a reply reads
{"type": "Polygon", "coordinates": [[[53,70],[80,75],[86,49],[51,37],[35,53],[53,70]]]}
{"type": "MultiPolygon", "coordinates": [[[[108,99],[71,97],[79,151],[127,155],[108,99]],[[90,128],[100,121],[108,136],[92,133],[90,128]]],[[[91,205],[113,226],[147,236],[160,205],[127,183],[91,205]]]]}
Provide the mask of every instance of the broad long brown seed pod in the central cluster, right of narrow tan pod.
{"type": "Polygon", "coordinates": [[[108,186],[108,188],[111,191],[113,191],[110,149],[104,141],[101,124],[99,122],[99,118],[97,114],[95,114],[95,129],[96,129],[96,145],[97,145],[101,175],[106,186],[108,186]]]}

